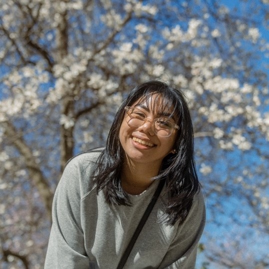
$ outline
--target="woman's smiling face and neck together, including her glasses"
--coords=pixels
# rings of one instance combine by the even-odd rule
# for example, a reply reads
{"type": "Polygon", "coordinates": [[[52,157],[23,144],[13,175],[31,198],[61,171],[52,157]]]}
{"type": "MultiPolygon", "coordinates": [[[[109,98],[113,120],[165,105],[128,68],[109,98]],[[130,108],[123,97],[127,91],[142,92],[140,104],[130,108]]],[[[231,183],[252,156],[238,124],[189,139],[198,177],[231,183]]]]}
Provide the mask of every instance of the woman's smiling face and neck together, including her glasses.
{"type": "Polygon", "coordinates": [[[129,109],[121,123],[119,139],[127,164],[122,169],[121,185],[130,194],[147,189],[152,178],[159,174],[164,157],[174,154],[177,129],[172,111],[169,108],[156,110],[163,102],[161,94],[155,93],[147,99],[139,98],[133,107],[127,106],[129,109]]]}

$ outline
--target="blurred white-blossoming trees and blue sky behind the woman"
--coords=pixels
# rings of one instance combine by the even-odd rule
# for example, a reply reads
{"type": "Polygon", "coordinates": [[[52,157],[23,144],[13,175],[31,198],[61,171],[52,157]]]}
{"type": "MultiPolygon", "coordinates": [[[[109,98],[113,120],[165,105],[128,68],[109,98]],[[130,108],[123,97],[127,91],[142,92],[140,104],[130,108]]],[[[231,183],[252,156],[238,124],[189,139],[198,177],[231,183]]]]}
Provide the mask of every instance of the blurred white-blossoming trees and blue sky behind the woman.
{"type": "Polygon", "coordinates": [[[0,0],[0,268],[43,268],[65,163],[156,78],[193,117],[196,268],[269,268],[268,59],[269,0],[0,0]]]}

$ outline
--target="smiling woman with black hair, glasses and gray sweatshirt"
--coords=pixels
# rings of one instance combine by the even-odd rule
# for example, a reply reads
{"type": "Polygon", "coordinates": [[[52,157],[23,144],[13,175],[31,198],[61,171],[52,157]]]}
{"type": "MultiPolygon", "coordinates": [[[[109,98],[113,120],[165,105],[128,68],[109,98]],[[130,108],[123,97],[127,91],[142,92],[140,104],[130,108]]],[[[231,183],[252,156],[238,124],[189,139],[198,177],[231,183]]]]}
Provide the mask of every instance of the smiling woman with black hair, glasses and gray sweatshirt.
{"type": "Polygon", "coordinates": [[[193,148],[182,92],[160,81],[137,86],[119,108],[106,147],[66,165],[45,269],[116,269],[162,183],[124,268],[194,268],[205,206],[193,148]]]}

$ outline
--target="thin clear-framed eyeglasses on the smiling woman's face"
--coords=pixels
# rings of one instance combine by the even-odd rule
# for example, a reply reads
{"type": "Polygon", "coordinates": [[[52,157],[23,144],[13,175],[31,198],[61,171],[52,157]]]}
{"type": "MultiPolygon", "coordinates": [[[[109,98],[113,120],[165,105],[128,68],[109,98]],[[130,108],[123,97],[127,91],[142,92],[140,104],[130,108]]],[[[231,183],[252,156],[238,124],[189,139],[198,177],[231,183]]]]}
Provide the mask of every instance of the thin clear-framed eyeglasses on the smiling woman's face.
{"type": "MultiPolygon", "coordinates": [[[[140,127],[147,119],[145,113],[136,107],[125,106],[125,120],[128,125],[133,127],[140,127]]],[[[153,120],[153,131],[156,135],[162,137],[168,137],[172,134],[174,129],[179,129],[177,124],[173,124],[171,121],[165,118],[156,118],[153,120]]]]}

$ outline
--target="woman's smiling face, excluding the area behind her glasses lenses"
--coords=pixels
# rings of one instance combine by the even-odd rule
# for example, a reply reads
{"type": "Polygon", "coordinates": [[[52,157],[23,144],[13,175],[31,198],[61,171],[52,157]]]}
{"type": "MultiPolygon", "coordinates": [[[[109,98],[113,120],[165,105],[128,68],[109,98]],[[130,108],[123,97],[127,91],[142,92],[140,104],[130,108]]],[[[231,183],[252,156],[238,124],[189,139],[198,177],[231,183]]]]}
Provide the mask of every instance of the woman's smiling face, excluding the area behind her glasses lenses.
{"type": "MultiPolygon", "coordinates": [[[[132,107],[136,107],[144,112],[149,121],[145,121],[139,127],[133,127],[127,124],[125,118],[120,127],[120,143],[125,151],[125,157],[131,160],[134,164],[151,164],[161,167],[162,161],[169,153],[174,153],[174,144],[176,140],[176,129],[168,137],[161,137],[154,133],[152,121],[155,118],[168,118],[168,114],[172,113],[173,108],[166,108],[162,113],[158,109],[152,109],[153,105],[158,106],[162,102],[162,97],[158,94],[153,94],[146,102],[137,100],[132,107]],[[157,99],[156,99],[157,98],[157,99]],[[157,114],[158,113],[158,114],[157,114]]],[[[176,119],[169,118],[173,124],[176,124],[176,119]]]]}

